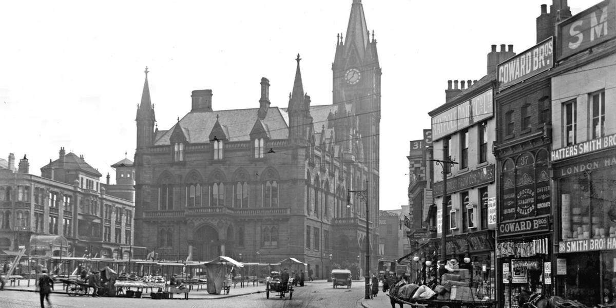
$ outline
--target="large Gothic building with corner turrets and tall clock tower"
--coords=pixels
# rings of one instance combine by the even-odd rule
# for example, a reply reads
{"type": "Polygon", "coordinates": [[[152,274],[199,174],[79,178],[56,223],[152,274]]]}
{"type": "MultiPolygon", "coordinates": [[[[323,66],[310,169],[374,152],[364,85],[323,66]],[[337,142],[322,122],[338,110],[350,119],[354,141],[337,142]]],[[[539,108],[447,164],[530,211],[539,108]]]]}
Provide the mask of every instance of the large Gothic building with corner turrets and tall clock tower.
{"type": "Polygon", "coordinates": [[[174,260],[296,257],[324,277],[332,262],[365,254],[370,221],[376,255],[381,68],[361,1],[336,43],[333,103],[310,102],[296,60],[285,107],[270,106],[267,78],[255,108],[217,110],[212,91],[198,90],[168,130],[155,129],[146,70],[136,118],[138,245],[174,260]],[[368,198],[353,193],[347,208],[347,190],[368,198]]]}

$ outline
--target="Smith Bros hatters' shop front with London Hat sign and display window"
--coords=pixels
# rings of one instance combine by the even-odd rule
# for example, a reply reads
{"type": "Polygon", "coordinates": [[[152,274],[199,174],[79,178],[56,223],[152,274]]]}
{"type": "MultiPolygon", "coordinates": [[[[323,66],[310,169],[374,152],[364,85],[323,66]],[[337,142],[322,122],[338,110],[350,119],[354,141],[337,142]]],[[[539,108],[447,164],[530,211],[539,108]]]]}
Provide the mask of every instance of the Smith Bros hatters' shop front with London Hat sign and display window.
{"type": "Polygon", "coordinates": [[[556,295],[587,306],[616,300],[614,148],[554,164],[561,218],[556,295]]]}

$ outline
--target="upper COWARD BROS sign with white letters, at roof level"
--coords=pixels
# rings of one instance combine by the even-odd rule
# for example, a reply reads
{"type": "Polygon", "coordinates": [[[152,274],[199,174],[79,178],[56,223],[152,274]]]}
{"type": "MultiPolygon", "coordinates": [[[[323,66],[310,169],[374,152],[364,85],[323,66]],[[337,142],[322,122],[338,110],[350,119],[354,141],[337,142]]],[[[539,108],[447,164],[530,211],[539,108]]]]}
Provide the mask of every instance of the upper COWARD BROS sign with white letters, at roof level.
{"type": "Polygon", "coordinates": [[[498,65],[499,89],[513,86],[554,67],[554,39],[549,37],[529,50],[498,65]]]}

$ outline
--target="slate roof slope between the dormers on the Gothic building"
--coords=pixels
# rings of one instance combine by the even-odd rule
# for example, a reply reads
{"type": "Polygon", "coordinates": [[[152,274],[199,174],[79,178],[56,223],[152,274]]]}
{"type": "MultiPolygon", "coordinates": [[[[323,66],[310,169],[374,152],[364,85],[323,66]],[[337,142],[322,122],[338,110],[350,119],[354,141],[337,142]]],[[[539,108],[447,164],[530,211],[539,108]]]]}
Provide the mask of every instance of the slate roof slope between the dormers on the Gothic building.
{"type": "MultiPolygon", "coordinates": [[[[235,109],[235,110],[215,110],[215,111],[193,111],[180,119],[182,129],[190,132],[191,143],[208,143],[209,134],[218,121],[228,132],[229,141],[250,140],[250,132],[254,123],[257,121],[257,111],[259,108],[235,109]]],[[[272,139],[287,139],[289,136],[289,116],[285,110],[278,107],[270,107],[263,123],[269,128],[272,139]]],[[[168,145],[172,129],[169,131],[158,131],[154,145],[168,145]]],[[[188,136],[187,136],[188,137],[188,136]]]]}

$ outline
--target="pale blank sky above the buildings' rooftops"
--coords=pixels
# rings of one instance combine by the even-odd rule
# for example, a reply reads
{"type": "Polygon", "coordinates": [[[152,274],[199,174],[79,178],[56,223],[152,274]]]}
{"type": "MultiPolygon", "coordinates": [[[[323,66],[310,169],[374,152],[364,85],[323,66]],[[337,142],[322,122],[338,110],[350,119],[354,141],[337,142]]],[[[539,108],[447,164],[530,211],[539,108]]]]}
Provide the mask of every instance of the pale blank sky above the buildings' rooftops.
{"type": "MultiPolygon", "coordinates": [[[[569,0],[577,14],[598,0],[569,0]]],[[[144,69],[158,128],[212,89],[213,109],[258,108],[261,77],[287,107],[295,57],[313,105],[331,104],[336,34],[352,0],[6,1],[0,11],[0,158],[30,172],[60,147],[103,174],[136,147],[144,69]]],[[[409,141],[429,129],[448,79],[480,79],[492,44],[535,45],[549,0],[363,0],[381,79],[381,209],[408,204],[409,141]]]]}

